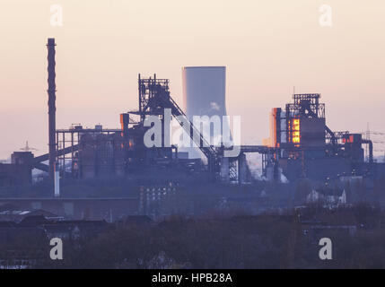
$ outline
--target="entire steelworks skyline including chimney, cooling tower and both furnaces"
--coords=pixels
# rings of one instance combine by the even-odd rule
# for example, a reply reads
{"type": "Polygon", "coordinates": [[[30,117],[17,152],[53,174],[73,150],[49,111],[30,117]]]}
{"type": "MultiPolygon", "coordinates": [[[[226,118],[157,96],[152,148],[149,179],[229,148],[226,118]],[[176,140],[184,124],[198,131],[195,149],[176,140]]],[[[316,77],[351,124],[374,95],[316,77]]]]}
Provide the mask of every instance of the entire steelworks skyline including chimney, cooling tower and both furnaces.
{"type": "MultiPolygon", "coordinates": [[[[32,169],[48,172],[52,183],[54,178],[58,182],[59,176],[87,179],[145,175],[159,179],[157,173],[166,170],[170,177],[184,172],[188,176],[244,184],[251,178],[246,161],[249,152],[262,154],[263,175],[269,180],[281,181],[285,177],[290,182],[302,178],[325,181],[352,176],[379,178],[385,174],[384,165],[373,160],[372,141],[361,134],[335,132],[327,126],[325,104],[319,101],[318,93],[294,94],[293,102],[284,109],[272,110],[270,137],[262,145],[237,146],[238,155],[225,157],[226,149],[231,148],[213,145],[216,135],[204,136],[202,127],[195,126],[193,120],[194,116],[226,116],[224,66],[182,69],[186,113],[172,99],[168,79],[159,79],[156,74],[143,78],[139,74],[138,109],[120,114],[119,128],[76,124],[57,129],[55,39],[48,39],[47,48],[49,152],[37,157],[31,152],[14,152],[12,163],[0,164],[0,186],[31,184],[32,169]],[[170,114],[166,115],[166,109],[170,114]],[[152,128],[146,125],[149,116],[162,124],[161,146],[144,144],[144,135],[152,128]],[[185,157],[177,144],[167,144],[167,117],[175,118],[190,137],[195,155],[185,157]],[[363,145],[368,149],[368,161],[364,161],[363,145]],[[205,161],[201,161],[202,155],[205,161]]],[[[224,126],[221,128],[223,131],[224,126]]],[[[213,133],[211,125],[210,132],[213,133]]]]}

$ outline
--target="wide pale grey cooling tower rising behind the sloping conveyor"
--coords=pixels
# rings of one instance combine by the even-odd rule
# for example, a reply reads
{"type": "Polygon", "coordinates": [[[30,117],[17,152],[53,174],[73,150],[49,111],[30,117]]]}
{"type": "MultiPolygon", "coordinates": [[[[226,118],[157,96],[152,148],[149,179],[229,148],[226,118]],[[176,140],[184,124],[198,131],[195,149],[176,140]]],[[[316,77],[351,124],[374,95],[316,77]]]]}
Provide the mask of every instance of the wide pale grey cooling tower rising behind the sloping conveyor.
{"type": "MultiPolygon", "coordinates": [[[[194,116],[213,117],[216,115],[221,118],[222,123],[223,116],[226,116],[225,66],[185,66],[182,68],[182,84],[184,109],[191,121],[194,116]]],[[[214,133],[212,125],[211,138],[206,138],[206,140],[213,143],[213,138],[216,136],[218,135],[214,133]]],[[[186,149],[182,149],[182,151],[186,151],[186,149]]],[[[188,149],[188,157],[200,157],[197,146],[188,149]]]]}

